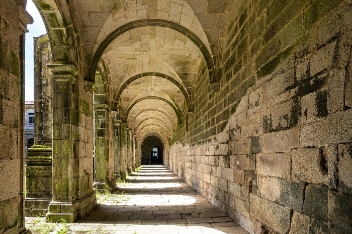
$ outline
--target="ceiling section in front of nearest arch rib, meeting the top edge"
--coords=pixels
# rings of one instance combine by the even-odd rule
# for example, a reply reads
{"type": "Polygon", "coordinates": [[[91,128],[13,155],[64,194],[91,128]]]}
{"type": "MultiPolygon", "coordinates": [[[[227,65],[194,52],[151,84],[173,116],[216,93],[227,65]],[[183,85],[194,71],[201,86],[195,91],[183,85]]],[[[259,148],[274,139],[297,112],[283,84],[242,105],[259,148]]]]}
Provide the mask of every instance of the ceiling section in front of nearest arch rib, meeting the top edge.
{"type": "MultiPolygon", "coordinates": [[[[80,0],[80,2],[81,5],[89,5],[86,1],[80,0]]],[[[202,24],[187,1],[102,1],[110,2],[110,4],[101,4],[99,0],[97,2],[99,3],[96,3],[94,9],[81,13],[83,27],[87,32],[91,32],[90,35],[87,33],[86,40],[95,45],[91,52],[87,52],[89,54],[94,54],[102,42],[120,27],[130,22],[148,19],[164,20],[181,25],[200,38],[208,51],[211,51],[202,24]]],[[[85,6],[84,9],[86,8],[85,6]]]]}

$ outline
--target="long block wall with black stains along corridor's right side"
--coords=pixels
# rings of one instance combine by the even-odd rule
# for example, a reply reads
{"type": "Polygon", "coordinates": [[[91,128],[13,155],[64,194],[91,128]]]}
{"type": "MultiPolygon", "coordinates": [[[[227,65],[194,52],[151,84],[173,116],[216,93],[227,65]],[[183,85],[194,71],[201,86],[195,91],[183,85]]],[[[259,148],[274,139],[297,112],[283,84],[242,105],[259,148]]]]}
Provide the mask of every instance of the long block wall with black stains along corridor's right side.
{"type": "Polygon", "coordinates": [[[221,88],[203,61],[170,169],[250,233],[352,232],[350,1],[231,9],[221,88]]]}

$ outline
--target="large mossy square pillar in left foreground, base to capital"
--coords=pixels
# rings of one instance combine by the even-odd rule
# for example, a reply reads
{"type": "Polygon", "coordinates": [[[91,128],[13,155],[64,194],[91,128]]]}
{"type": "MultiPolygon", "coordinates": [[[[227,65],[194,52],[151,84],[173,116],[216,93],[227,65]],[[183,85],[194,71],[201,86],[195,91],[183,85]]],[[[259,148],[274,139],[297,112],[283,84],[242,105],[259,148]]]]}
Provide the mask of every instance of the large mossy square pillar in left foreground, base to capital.
{"type": "Polygon", "coordinates": [[[93,94],[73,65],[52,72],[53,196],[47,221],[82,218],[96,205],[93,190],[93,94]]]}

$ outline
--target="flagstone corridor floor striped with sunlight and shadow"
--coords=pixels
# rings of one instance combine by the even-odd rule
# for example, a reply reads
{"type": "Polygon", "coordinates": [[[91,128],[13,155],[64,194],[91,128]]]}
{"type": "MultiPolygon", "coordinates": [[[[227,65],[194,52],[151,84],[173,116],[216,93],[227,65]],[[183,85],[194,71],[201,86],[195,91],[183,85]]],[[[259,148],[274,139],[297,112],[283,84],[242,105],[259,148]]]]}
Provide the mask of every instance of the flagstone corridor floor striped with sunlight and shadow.
{"type": "Polygon", "coordinates": [[[67,233],[248,233],[161,165],[144,166],[114,194],[99,195],[98,203],[83,220],[69,224],[67,233]]]}

